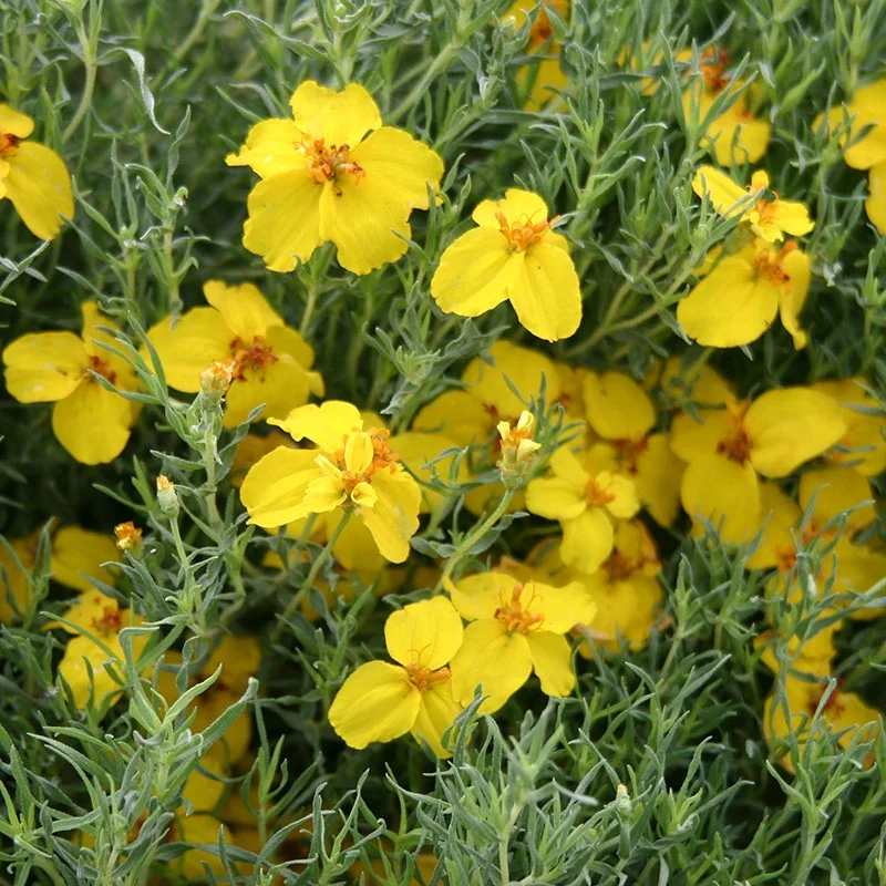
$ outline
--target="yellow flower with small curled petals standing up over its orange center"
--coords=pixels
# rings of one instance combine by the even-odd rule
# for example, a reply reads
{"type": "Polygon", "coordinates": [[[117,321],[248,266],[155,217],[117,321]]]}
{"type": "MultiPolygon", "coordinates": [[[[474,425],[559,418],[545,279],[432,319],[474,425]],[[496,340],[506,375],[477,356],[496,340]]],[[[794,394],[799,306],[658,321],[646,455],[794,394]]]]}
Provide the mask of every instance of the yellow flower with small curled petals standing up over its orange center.
{"type": "Polygon", "coordinates": [[[388,432],[363,430],[357,408],[339,400],[299,406],[271,424],[318,449],[279,446],[250,468],[240,488],[249,523],[275,528],[341,507],[365,524],[385,559],[402,563],[419,528],[421,490],[388,432]]]}

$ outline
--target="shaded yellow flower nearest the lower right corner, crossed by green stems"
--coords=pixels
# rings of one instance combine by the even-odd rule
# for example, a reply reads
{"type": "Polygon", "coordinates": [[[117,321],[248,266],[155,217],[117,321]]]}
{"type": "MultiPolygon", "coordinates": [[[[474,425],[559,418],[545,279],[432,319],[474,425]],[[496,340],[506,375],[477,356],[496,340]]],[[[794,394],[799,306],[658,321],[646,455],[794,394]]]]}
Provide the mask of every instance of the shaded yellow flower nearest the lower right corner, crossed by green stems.
{"type": "MultiPolygon", "coordinates": [[[[837,736],[841,748],[848,748],[861,731],[862,741],[870,741],[883,729],[882,715],[853,692],[844,692],[839,683],[827,693],[827,684],[803,677],[785,677],[784,702],[773,693],[763,708],[763,734],[776,762],[789,772],[793,763],[785,748],[785,739],[795,736],[797,752],[802,755],[813,732],[828,729],[837,736]],[[786,707],[786,709],[785,709],[786,707]]],[[[874,762],[873,751],[865,761],[874,762]]]]}

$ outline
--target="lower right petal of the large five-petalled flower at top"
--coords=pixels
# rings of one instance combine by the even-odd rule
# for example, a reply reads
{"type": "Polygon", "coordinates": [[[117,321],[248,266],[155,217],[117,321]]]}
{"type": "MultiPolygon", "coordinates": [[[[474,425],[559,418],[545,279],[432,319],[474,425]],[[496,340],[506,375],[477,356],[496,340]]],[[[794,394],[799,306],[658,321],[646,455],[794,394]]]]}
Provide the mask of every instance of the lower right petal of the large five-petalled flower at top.
{"type": "Polygon", "coordinates": [[[384,178],[340,175],[322,186],[320,235],[336,244],[342,268],[369,274],[409,249],[411,212],[384,178]]]}

